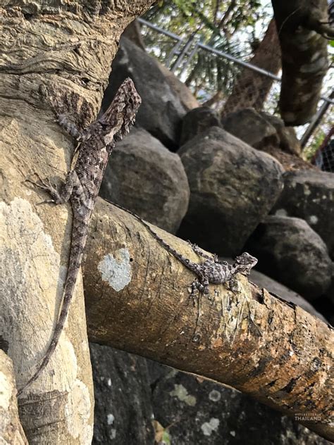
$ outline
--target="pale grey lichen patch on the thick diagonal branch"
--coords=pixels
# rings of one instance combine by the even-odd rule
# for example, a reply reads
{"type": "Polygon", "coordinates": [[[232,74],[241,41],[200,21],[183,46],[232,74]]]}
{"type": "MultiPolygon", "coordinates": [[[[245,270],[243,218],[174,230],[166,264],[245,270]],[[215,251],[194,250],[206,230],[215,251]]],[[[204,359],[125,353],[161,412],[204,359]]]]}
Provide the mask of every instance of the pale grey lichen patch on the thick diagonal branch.
{"type": "Polygon", "coordinates": [[[131,281],[132,268],[128,249],[118,249],[115,257],[108,253],[99,262],[97,268],[101,272],[102,280],[109,282],[109,285],[117,292],[124,289],[131,281]]]}

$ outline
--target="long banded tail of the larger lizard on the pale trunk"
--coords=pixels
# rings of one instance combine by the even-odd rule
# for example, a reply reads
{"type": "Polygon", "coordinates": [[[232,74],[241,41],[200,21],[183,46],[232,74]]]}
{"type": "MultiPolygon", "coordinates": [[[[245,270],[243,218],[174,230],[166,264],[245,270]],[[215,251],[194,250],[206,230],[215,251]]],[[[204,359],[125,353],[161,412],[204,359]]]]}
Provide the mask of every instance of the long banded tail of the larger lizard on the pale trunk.
{"type": "Polygon", "coordinates": [[[58,344],[59,338],[61,337],[61,332],[63,332],[63,327],[68,316],[68,309],[70,308],[70,302],[73,297],[75,282],[77,281],[78,273],[80,270],[80,265],[82,261],[82,253],[85,250],[85,244],[87,240],[87,233],[80,234],[80,230],[77,227],[73,227],[72,244],[70,247],[70,260],[68,263],[68,272],[66,276],[65,287],[63,291],[63,303],[61,306],[61,312],[58,317],[56,327],[54,329],[54,335],[51,339],[51,343],[44,354],[42,363],[32,377],[27,381],[24,387],[18,390],[18,396],[41,374],[41,372],[47,367],[54,350],[58,344]]]}

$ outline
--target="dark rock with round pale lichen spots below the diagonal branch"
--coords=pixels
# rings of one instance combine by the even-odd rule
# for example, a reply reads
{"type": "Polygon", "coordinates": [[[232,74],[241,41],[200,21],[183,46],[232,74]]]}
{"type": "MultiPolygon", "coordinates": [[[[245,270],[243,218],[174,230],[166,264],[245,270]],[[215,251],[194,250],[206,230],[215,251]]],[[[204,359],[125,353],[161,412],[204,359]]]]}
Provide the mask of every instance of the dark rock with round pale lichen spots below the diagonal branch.
{"type": "Polygon", "coordinates": [[[246,394],[148,361],[154,415],[178,445],[329,445],[246,394]]]}

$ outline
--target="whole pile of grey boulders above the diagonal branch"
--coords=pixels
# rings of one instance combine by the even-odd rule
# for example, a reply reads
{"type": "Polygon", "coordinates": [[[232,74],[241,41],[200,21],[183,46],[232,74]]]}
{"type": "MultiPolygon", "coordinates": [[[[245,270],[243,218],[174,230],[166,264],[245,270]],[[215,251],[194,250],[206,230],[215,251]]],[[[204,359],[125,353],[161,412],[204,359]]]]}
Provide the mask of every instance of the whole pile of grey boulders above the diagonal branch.
{"type": "Polygon", "coordinates": [[[102,196],[218,255],[248,249],[269,277],[312,303],[333,301],[334,175],[299,158],[294,130],[252,108],[222,121],[209,108],[186,111],[172,87],[179,81],[171,73],[167,81],[128,39],[104,107],[128,75],[142,107],[137,128],[116,146],[102,196]]]}

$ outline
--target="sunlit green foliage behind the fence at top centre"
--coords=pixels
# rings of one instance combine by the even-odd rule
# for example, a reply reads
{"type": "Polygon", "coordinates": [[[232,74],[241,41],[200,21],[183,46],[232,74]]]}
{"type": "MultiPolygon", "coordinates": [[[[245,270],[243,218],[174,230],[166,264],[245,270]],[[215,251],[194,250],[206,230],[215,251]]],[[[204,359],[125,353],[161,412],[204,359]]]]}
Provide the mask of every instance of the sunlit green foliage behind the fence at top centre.
{"type": "MultiPolygon", "coordinates": [[[[260,6],[259,0],[165,0],[147,11],[144,18],[183,37],[184,42],[193,36],[196,42],[247,59],[252,51],[249,40],[254,38],[254,25],[266,14],[264,8],[260,11],[260,6]],[[241,38],[237,37],[240,33],[241,38]]],[[[165,62],[175,41],[161,35],[157,37],[152,30],[145,34],[149,52],[165,62]]],[[[185,70],[181,66],[176,74],[182,73],[186,84],[205,100],[217,90],[231,91],[238,72],[235,63],[199,50],[185,70]]]]}

